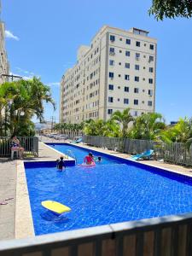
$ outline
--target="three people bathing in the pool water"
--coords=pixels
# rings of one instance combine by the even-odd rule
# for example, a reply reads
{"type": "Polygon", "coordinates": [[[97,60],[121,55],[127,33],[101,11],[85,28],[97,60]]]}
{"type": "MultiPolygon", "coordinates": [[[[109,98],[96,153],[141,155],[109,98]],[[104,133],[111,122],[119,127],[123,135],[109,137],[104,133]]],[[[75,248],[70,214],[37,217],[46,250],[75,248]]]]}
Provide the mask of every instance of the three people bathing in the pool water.
{"type": "MultiPolygon", "coordinates": [[[[99,163],[102,162],[102,157],[98,156],[96,159],[96,162],[99,162],[99,163]]],[[[91,152],[84,157],[84,164],[87,166],[96,165],[94,155],[91,152]]],[[[61,156],[60,159],[56,160],[56,167],[59,171],[63,171],[66,169],[66,164],[63,156],[61,156]]]]}

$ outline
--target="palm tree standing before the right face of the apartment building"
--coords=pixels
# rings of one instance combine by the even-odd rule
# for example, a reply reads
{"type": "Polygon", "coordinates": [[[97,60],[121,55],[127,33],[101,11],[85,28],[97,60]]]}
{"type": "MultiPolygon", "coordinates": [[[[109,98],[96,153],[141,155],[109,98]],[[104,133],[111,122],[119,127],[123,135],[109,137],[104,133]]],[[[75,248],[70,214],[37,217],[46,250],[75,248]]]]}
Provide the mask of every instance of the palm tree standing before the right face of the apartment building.
{"type": "Polygon", "coordinates": [[[134,120],[131,116],[130,108],[125,108],[123,112],[120,112],[119,110],[115,111],[111,119],[122,125],[122,136],[126,137],[128,125],[134,120]]]}

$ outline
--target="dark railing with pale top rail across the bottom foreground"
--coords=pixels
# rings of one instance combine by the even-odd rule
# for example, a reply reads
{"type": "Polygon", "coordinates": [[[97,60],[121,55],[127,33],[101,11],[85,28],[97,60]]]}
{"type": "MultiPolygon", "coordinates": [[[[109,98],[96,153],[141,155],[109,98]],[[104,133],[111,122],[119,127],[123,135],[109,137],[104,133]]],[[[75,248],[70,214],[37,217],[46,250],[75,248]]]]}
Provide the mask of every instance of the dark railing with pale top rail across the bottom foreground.
{"type": "Polygon", "coordinates": [[[190,256],[192,213],[0,241],[1,256],[190,256]]]}

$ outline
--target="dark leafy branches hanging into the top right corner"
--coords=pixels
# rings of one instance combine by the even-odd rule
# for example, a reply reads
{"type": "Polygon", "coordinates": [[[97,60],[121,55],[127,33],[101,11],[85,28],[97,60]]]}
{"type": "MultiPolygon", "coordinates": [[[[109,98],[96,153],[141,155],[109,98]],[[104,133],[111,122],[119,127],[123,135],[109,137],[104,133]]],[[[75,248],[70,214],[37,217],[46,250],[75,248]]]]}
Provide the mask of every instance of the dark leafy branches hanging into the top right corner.
{"type": "Polygon", "coordinates": [[[154,15],[155,19],[163,20],[175,17],[192,17],[191,0],[153,0],[152,7],[148,10],[149,15],[154,15]]]}

